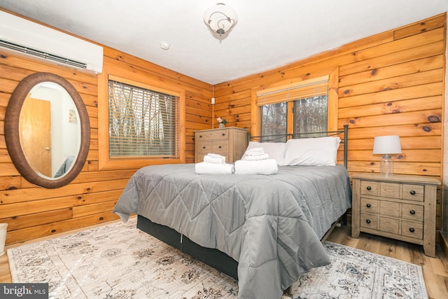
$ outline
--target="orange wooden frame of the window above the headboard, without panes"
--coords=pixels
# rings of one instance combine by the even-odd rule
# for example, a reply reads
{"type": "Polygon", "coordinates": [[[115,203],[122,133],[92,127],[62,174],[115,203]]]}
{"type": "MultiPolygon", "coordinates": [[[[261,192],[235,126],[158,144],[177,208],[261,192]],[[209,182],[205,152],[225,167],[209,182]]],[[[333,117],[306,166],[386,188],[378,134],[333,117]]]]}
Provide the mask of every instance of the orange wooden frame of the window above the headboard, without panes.
{"type": "MultiPolygon", "coordinates": [[[[338,95],[338,78],[339,78],[339,68],[334,69],[329,74],[324,76],[318,76],[314,78],[310,78],[307,80],[302,81],[295,81],[291,83],[288,81],[286,83],[283,81],[282,83],[276,83],[274,86],[269,88],[258,88],[258,89],[252,89],[251,91],[251,135],[252,136],[259,136],[261,133],[261,109],[260,105],[258,103],[258,97],[259,95],[262,95],[266,92],[276,92],[280,90],[285,90],[288,88],[300,88],[300,86],[309,85],[314,82],[322,81],[324,78],[328,78],[328,123],[327,123],[327,130],[328,131],[335,131],[337,130],[337,102],[339,100],[338,95]]],[[[286,101],[285,101],[286,102],[286,101]]],[[[288,113],[292,114],[293,111],[293,103],[294,101],[288,101],[288,113]]],[[[286,124],[286,133],[287,134],[293,134],[293,118],[287,118],[287,124],[286,124]]]]}

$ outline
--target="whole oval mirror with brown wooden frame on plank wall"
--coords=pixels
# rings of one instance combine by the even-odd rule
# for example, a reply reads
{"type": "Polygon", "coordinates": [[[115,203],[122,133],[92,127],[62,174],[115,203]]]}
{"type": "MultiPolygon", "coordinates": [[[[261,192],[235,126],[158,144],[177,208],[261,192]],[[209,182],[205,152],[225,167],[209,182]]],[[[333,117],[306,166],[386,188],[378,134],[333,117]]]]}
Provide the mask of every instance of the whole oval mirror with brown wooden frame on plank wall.
{"type": "Polygon", "coordinates": [[[90,121],[83,99],[61,76],[27,76],[6,107],[5,141],[27,181],[44,188],[65,186],[83,169],[89,151],[90,121]]]}

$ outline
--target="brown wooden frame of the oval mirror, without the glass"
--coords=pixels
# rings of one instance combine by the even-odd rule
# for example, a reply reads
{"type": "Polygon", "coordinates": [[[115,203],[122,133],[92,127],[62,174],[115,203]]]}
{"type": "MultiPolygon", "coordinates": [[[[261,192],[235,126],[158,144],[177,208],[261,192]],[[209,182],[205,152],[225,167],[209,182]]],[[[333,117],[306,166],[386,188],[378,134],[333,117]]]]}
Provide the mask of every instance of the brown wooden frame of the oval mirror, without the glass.
{"type": "Polygon", "coordinates": [[[24,78],[15,88],[11,95],[5,114],[5,141],[6,148],[13,160],[15,168],[18,172],[27,179],[30,183],[43,188],[59,188],[69,184],[78,176],[81,169],[83,169],[87,154],[90,147],[90,120],[87,114],[87,109],[83,99],[80,97],[78,91],[61,76],[51,73],[35,73],[24,78]],[[76,109],[78,110],[80,122],[80,148],[78,156],[73,164],[73,167],[64,176],[59,179],[45,179],[38,175],[25,158],[22,146],[20,145],[19,119],[20,111],[27,95],[34,88],[35,85],[42,82],[52,82],[59,84],[68,92],[73,100],[76,109]]]}

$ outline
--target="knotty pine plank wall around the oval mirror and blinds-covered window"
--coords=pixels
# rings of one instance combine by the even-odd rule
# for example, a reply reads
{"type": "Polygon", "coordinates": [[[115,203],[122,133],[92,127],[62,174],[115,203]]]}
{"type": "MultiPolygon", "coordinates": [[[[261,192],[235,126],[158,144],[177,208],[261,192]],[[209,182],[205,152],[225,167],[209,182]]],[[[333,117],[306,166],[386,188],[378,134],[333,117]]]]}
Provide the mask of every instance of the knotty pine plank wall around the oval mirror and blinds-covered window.
{"type": "MultiPolygon", "coordinates": [[[[211,85],[111,48],[105,48],[104,55],[105,66],[134,69],[152,81],[173,83],[186,90],[186,162],[194,162],[193,132],[211,127],[211,85]]],[[[0,223],[8,223],[6,244],[118,218],[111,211],[137,169],[99,170],[98,102],[97,76],[0,50],[0,223]],[[90,118],[87,162],[72,183],[57,189],[38,188],[23,179],[8,156],[4,139],[3,120],[10,95],[23,78],[38,71],[66,78],[80,93],[90,118]]]]}

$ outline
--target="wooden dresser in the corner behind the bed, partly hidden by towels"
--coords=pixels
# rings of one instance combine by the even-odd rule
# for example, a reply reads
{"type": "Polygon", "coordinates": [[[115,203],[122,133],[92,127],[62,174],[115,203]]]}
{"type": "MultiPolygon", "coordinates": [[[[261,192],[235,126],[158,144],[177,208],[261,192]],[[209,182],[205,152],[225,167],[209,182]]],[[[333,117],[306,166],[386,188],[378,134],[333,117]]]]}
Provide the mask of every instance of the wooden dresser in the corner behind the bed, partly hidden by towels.
{"type": "Polygon", "coordinates": [[[247,148],[247,130],[239,127],[195,132],[195,162],[202,162],[207,153],[225,156],[225,162],[241,159],[247,148]]]}

